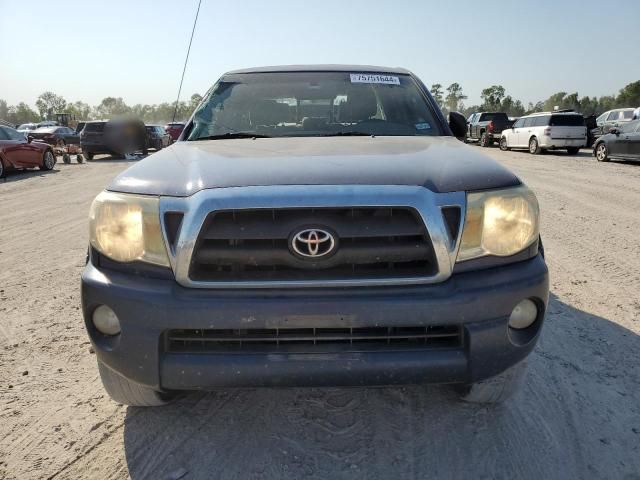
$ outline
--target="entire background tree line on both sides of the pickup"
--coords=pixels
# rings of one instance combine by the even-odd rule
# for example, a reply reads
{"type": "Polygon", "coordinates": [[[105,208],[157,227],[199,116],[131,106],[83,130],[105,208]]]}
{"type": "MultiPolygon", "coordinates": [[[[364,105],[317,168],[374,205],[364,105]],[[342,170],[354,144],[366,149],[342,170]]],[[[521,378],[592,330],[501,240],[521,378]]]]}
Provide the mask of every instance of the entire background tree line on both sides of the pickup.
{"type": "MultiPolygon", "coordinates": [[[[583,115],[598,115],[613,108],[640,106],[640,80],[626,85],[617,95],[580,97],[577,92],[558,92],[546,100],[536,103],[529,102],[526,106],[520,100],[507,95],[502,85],[491,85],[483,89],[480,94],[482,103],[470,106],[464,103],[468,97],[464,94],[459,83],[452,83],[447,88],[444,88],[439,83],[434,83],[431,85],[430,90],[433,98],[445,113],[458,111],[465,116],[473,112],[499,111],[506,112],[513,117],[520,117],[528,113],[550,111],[556,106],[559,108],[571,108],[581,112],[583,115]]],[[[201,100],[202,96],[194,93],[189,98],[189,101],[178,102],[176,120],[188,118],[201,100]]],[[[147,123],[164,123],[172,120],[175,108],[174,102],[129,106],[122,97],[106,97],[102,99],[100,104],[92,107],[81,101],[68,102],[65,98],[53,92],[42,93],[36,99],[35,105],[36,110],[24,102],[20,102],[17,105],[8,105],[6,101],[0,99],[0,120],[19,125],[21,123],[52,120],[56,113],[69,112],[78,120],[133,115],[147,123]]]]}

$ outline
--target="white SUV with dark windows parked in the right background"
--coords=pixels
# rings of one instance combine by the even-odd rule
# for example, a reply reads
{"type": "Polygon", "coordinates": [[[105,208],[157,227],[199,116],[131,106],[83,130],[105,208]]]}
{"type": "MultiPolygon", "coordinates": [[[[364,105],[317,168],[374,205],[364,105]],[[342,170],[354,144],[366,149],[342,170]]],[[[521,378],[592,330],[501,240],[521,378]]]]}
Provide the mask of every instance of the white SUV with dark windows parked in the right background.
{"type": "Polygon", "coordinates": [[[566,148],[570,155],[575,155],[586,145],[584,118],[574,112],[543,112],[521,117],[500,137],[500,150],[528,148],[534,154],[566,148]]]}

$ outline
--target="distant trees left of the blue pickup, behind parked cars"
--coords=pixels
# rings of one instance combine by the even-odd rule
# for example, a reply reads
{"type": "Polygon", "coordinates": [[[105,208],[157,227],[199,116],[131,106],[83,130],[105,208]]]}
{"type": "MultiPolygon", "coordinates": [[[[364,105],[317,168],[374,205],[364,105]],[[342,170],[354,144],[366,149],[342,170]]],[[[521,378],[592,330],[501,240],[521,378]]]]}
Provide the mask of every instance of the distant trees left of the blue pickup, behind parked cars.
{"type": "MultiPolygon", "coordinates": [[[[202,96],[194,93],[189,101],[178,102],[176,120],[186,120],[202,100],[202,96]]],[[[141,118],[146,123],[166,123],[173,119],[175,102],[163,102],[156,105],[127,105],[122,97],[106,97],[96,106],[85,102],[68,102],[64,97],[53,92],[44,92],[36,99],[34,110],[25,102],[8,105],[0,99],[0,120],[20,125],[22,123],[55,120],[56,113],[68,112],[76,120],[99,120],[125,115],[141,118]]]]}

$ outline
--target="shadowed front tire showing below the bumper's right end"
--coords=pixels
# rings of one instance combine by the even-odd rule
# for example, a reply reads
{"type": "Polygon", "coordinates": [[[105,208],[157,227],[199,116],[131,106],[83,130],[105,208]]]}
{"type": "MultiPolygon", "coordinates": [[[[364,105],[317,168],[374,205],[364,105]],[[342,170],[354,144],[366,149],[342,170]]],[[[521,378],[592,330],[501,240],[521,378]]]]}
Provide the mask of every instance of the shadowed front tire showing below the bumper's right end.
{"type": "Polygon", "coordinates": [[[458,387],[460,398],[470,403],[502,403],[518,390],[526,373],[526,361],[520,362],[495,377],[458,387]]]}

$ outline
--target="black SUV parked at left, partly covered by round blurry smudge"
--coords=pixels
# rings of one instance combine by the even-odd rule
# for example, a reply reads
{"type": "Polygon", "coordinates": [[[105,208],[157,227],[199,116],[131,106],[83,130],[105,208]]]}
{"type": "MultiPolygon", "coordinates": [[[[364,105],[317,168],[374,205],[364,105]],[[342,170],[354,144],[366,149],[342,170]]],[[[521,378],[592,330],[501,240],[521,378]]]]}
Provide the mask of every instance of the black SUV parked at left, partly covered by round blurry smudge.
{"type": "Polygon", "coordinates": [[[141,152],[147,154],[147,132],[141,120],[97,120],[86,122],[80,132],[80,145],[88,160],[94,155],[121,157],[141,152]]]}

